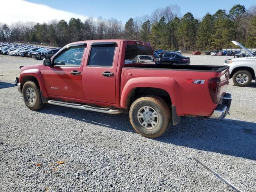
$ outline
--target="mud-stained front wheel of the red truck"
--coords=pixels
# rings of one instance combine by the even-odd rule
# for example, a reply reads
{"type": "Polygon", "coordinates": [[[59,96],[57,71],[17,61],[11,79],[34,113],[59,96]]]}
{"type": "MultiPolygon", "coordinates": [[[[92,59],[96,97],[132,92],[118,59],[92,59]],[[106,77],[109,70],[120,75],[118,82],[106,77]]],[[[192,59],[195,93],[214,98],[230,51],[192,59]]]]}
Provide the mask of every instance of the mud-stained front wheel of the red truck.
{"type": "MultiPolygon", "coordinates": [[[[31,92],[30,92],[31,93],[31,92]]],[[[32,94],[33,94],[32,93],[32,94]]],[[[23,88],[22,88],[22,96],[23,96],[23,100],[24,100],[24,103],[26,104],[26,106],[31,109],[31,110],[39,110],[39,109],[42,109],[44,107],[44,104],[42,102],[42,99],[41,99],[41,94],[40,94],[40,88],[32,81],[27,81],[23,88]],[[34,92],[34,101],[30,100],[31,99],[31,95],[30,96],[27,96],[27,91],[28,89],[32,89],[34,92]]]]}

